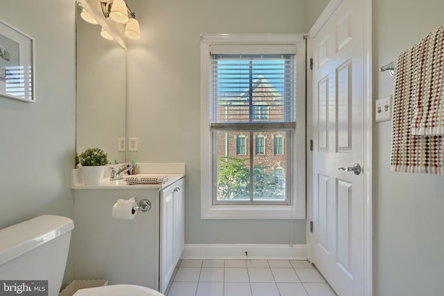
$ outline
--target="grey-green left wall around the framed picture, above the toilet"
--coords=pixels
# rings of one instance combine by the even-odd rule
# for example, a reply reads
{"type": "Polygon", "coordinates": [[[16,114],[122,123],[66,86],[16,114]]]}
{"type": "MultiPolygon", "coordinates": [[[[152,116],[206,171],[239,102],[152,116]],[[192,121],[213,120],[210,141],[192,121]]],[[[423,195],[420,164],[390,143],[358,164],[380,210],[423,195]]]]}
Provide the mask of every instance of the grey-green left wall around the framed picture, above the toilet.
{"type": "Polygon", "coordinates": [[[37,102],[0,97],[0,228],[41,214],[73,215],[74,8],[70,0],[1,1],[0,19],[35,38],[37,102]]]}

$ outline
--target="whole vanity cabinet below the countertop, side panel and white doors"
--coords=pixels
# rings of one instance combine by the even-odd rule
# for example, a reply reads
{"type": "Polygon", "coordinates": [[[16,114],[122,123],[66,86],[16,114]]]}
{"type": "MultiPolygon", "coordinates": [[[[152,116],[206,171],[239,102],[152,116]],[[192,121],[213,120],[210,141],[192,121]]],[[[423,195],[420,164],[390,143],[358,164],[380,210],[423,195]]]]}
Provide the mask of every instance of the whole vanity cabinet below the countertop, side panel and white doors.
{"type": "Polygon", "coordinates": [[[146,286],[164,293],[184,248],[185,173],[157,185],[76,184],[70,254],[75,279],[146,286]],[[133,220],[112,218],[114,202],[149,200],[133,220]]]}

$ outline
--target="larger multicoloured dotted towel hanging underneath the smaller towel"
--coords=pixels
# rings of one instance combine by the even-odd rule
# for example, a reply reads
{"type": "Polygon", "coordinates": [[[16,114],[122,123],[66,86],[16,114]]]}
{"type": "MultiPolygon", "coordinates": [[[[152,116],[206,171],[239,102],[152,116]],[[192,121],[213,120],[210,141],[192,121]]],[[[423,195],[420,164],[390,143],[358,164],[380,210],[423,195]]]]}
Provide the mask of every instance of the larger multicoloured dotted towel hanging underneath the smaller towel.
{"type": "Polygon", "coordinates": [[[412,46],[395,59],[393,81],[391,170],[407,173],[444,173],[443,139],[411,133],[418,96],[418,49],[412,46]]]}

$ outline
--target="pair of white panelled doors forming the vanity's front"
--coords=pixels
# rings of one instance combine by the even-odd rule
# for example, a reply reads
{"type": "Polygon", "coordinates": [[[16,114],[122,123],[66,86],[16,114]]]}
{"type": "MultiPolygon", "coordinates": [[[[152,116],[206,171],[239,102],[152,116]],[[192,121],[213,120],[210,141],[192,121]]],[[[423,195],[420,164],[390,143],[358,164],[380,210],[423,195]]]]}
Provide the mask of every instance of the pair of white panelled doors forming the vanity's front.
{"type": "Polygon", "coordinates": [[[185,245],[183,179],[160,193],[160,292],[167,290],[185,245]]]}

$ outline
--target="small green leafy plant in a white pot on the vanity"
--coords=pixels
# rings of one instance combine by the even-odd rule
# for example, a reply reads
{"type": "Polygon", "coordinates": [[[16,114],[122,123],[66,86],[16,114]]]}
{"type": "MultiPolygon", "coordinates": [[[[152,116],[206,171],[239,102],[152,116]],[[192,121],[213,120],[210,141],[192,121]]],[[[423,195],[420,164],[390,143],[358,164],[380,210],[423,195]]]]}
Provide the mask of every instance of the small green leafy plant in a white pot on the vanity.
{"type": "Polygon", "coordinates": [[[85,185],[102,184],[105,165],[108,164],[108,154],[101,148],[87,148],[78,155],[82,165],[83,182],[85,185]]]}

